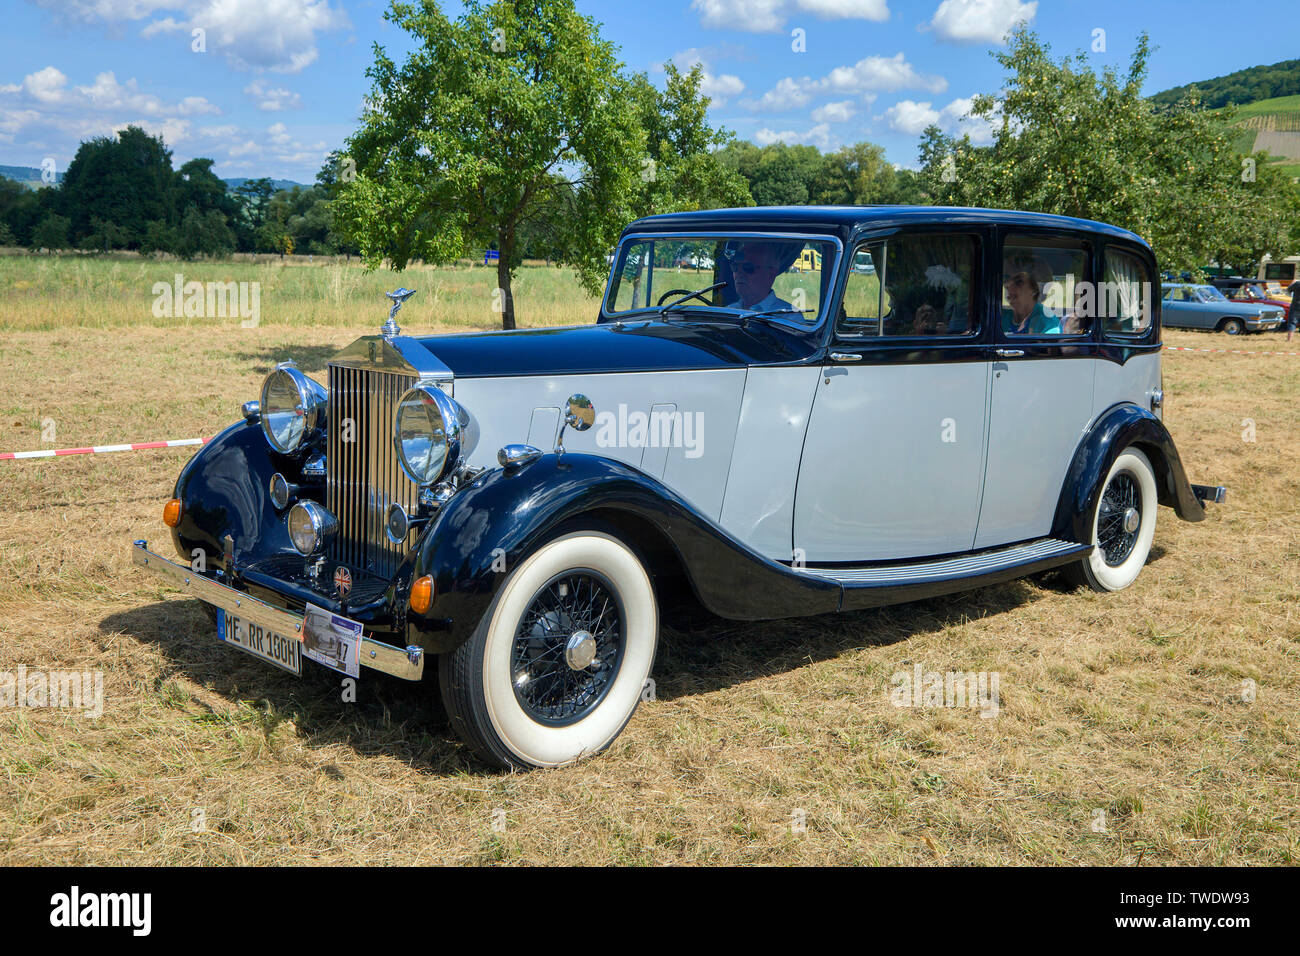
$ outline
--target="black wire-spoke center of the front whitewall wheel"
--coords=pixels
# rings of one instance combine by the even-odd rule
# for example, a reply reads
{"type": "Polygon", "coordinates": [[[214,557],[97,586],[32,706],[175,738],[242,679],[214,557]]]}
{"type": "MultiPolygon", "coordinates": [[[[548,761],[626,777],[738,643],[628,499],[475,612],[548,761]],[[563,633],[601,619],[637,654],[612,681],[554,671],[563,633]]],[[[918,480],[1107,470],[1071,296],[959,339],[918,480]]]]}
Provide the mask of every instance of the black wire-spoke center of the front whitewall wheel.
{"type": "Polygon", "coordinates": [[[564,726],[599,706],[623,662],[624,611],[597,571],[573,568],[543,584],[511,648],[515,697],[538,723],[564,726]]]}

